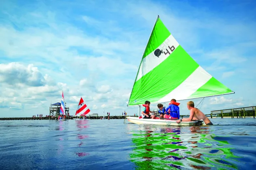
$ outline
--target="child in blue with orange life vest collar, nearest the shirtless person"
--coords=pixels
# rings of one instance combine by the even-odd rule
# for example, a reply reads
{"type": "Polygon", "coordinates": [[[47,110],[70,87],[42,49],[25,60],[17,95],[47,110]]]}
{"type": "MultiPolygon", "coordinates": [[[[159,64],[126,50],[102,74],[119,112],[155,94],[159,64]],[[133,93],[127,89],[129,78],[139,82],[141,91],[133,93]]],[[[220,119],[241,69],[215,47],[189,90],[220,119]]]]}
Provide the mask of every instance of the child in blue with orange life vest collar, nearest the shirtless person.
{"type": "Polygon", "coordinates": [[[177,103],[175,99],[171,99],[169,106],[166,108],[166,115],[164,118],[180,119],[180,103],[177,103]]]}

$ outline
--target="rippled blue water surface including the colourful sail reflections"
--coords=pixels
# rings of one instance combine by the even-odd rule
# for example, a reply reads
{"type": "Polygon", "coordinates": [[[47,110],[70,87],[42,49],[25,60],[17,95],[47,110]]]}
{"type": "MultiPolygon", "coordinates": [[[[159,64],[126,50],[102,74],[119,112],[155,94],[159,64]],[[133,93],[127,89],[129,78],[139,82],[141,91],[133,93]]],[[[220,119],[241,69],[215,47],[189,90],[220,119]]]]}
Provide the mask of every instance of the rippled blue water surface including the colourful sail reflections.
{"type": "Polygon", "coordinates": [[[256,119],[211,121],[204,127],[0,121],[0,169],[254,169],[256,119]]]}

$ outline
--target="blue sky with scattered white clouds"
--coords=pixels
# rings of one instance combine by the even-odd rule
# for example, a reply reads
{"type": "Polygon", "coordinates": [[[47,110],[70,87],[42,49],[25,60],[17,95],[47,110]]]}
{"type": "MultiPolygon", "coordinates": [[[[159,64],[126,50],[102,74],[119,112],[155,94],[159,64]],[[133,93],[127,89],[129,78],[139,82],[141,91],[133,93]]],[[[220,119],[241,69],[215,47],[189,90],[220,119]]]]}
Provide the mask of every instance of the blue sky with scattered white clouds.
{"type": "MultiPolygon", "coordinates": [[[[81,97],[90,113],[138,113],[126,102],[157,15],[235,92],[193,100],[198,108],[256,106],[255,11],[253,0],[2,0],[0,117],[49,115],[62,91],[70,115],[81,97]]],[[[178,101],[180,115],[189,113],[188,101],[178,101]]]]}

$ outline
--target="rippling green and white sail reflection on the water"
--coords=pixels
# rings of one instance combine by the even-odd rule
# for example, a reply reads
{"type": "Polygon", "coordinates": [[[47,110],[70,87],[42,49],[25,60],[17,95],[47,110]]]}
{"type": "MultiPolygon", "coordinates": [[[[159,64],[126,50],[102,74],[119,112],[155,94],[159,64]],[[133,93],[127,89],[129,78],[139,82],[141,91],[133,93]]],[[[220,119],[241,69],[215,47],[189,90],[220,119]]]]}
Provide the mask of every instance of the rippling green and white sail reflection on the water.
{"type": "Polygon", "coordinates": [[[215,140],[209,127],[140,125],[139,131],[132,132],[130,159],[137,169],[237,169],[233,148],[226,141],[215,140]]]}

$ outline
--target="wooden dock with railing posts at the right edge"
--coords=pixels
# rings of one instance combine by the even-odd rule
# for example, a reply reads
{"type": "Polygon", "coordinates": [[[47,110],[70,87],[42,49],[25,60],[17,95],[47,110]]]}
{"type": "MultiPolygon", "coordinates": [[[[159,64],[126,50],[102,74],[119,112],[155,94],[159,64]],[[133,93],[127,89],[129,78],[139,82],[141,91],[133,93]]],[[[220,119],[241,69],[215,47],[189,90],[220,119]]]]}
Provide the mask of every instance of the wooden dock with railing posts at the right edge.
{"type": "Polygon", "coordinates": [[[224,110],[213,110],[210,111],[210,117],[231,117],[234,118],[245,118],[245,117],[253,117],[256,116],[256,106],[249,107],[240,107],[240,108],[230,108],[224,110]]]}

